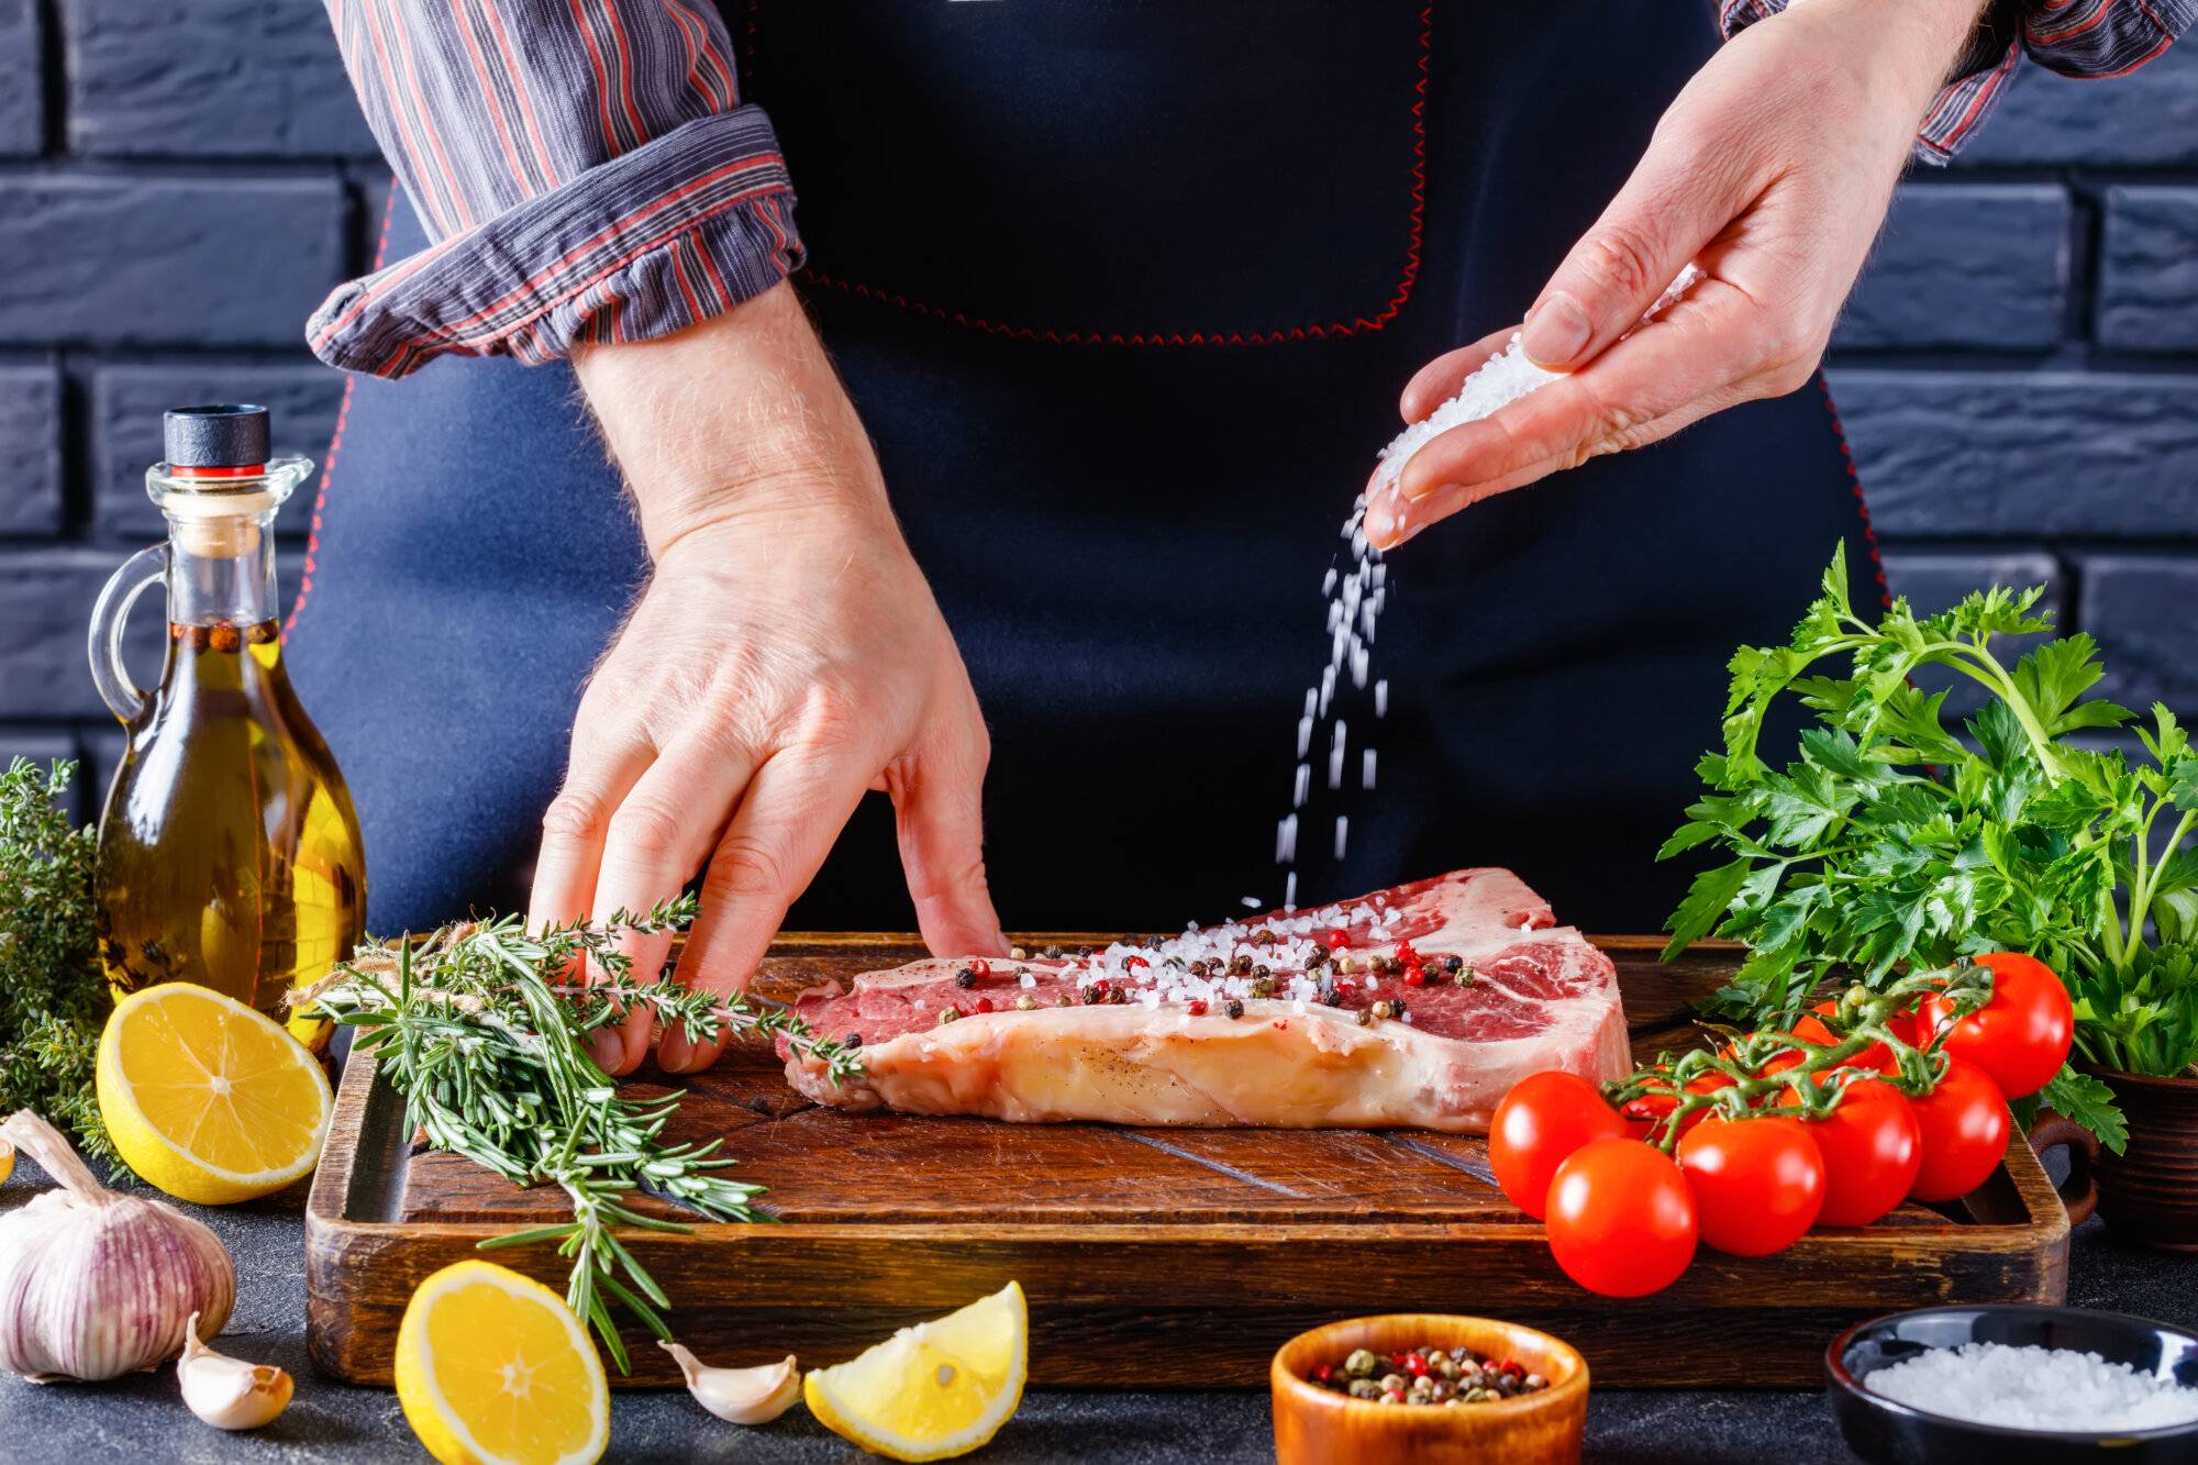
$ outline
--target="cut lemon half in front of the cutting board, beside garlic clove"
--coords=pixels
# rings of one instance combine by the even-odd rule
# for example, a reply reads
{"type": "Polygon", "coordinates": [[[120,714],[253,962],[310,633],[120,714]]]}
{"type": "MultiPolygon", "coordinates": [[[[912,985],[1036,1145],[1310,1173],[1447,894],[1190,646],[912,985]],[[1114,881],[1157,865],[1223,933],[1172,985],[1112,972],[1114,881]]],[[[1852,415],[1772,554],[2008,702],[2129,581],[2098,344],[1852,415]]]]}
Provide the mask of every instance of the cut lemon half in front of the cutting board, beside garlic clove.
{"type": "Polygon", "coordinates": [[[611,1388],[580,1320],[495,1263],[420,1282],[396,1375],[404,1419],[442,1465],[587,1465],[611,1443],[611,1388]]]}

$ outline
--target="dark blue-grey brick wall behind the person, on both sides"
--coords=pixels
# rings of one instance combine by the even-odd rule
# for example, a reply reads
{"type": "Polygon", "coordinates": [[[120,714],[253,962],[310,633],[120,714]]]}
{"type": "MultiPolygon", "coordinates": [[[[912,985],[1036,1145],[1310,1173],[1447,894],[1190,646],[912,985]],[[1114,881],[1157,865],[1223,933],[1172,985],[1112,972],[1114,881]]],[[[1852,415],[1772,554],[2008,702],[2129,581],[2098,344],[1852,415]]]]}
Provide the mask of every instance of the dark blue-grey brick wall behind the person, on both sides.
{"type": "MultiPolygon", "coordinates": [[[[84,623],[158,532],[163,407],[325,453],[299,328],[382,180],[319,0],[0,0],[0,757],[112,759],[84,623]]],[[[2198,44],[2024,70],[1901,189],[1831,381],[1897,587],[2051,581],[2119,695],[2198,713],[2198,44]]]]}

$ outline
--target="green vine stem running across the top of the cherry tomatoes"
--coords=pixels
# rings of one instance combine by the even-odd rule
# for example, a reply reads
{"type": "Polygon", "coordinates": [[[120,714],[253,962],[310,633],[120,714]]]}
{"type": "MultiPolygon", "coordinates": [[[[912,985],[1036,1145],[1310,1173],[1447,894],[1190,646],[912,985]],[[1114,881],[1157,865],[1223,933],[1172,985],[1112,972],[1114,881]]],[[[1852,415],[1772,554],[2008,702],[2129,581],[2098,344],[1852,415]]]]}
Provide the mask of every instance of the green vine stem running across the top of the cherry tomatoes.
{"type": "Polygon", "coordinates": [[[1725,1120],[1752,1113],[1822,1120],[1840,1106],[1849,1084],[1864,1078],[1884,1078],[1901,1093],[1921,1098],[1945,1078],[1945,1034],[1932,1034],[1917,1047],[1901,1034],[1897,1018],[1932,994],[1950,999],[1954,1012],[1965,1016],[1991,1001],[1991,972],[1963,961],[1947,970],[1908,972],[1886,988],[1855,983],[1820,1018],[1831,1043],[1791,1032],[1739,1034],[1710,1025],[1721,1038],[1714,1051],[1657,1054],[1655,1062],[1605,1084],[1602,1093],[1618,1111],[1648,1100],[1657,1115],[1648,1139],[1666,1155],[1677,1150],[1697,1113],[1725,1120]],[[1892,1054],[1892,1071],[1849,1067],[1851,1058],[1873,1045],[1892,1054]]]}

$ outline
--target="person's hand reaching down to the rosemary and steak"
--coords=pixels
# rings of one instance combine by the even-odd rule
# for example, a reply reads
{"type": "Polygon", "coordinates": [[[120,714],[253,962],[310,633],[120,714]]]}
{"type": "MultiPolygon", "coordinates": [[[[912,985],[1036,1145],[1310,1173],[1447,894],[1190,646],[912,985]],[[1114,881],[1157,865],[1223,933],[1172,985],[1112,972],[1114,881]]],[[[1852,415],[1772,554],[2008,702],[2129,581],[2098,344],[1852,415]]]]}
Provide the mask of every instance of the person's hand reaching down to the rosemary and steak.
{"type": "MultiPolygon", "coordinates": [[[[708,864],[677,977],[745,988],[875,787],[930,948],[1004,950],[976,693],[793,288],[574,363],[655,572],[580,700],[528,922],[646,911],[708,864]]],[[[668,941],[624,950],[646,972],[668,941]]],[[[596,1040],[611,1073],[646,1051],[646,1014],[596,1040]]],[[[677,1032],[657,1051],[714,1058],[677,1032]]]]}

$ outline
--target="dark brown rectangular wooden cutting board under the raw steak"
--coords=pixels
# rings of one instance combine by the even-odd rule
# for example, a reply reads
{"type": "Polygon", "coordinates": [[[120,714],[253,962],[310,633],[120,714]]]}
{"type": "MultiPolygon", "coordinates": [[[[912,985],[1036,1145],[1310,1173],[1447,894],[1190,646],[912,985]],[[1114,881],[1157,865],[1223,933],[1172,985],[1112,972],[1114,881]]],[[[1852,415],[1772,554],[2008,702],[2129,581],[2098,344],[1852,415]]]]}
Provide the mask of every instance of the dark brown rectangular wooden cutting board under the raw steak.
{"type": "MultiPolygon", "coordinates": [[[[1725,952],[1659,966],[1651,937],[1598,944],[1618,961],[1642,1058],[1684,1047],[1686,1001],[1732,970],[1725,952]]],[[[789,935],[758,990],[787,996],[919,955],[914,937],[789,935]]],[[[2068,1214],[2020,1139],[1958,1203],[1903,1205],[1772,1258],[1703,1249],[1670,1289],[1613,1302],[1556,1269],[1541,1225],[1495,1188],[1479,1137],[846,1115],[787,1089],[763,1047],[690,1082],[675,1137],[714,1133],[743,1179],[769,1186],[778,1223],[624,1241],[670,1293],[681,1342],[721,1364],[787,1351],[837,1362],[1015,1278],[1040,1386],[1264,1386],[1292,1333],[1378,1311],[1528,1322],[1576,1344],[1611,1386],[1816,1386],[1827,1342],[1857,1318],[2060,1302],[2068,1287],[2068,1214]]],[[[389,1384],[420,1278],[486,1236],[560,1221],[560,1199],[415,1146],[371,1060],[347,1065],[306,1212],[319,1368],[389,1384]]],[[[495,1258],[563,1291],[550,1247],[495,1258]]],[[[629,1344],[624,1381],[677,1381],[642,1329],[629,1344]]]]}

